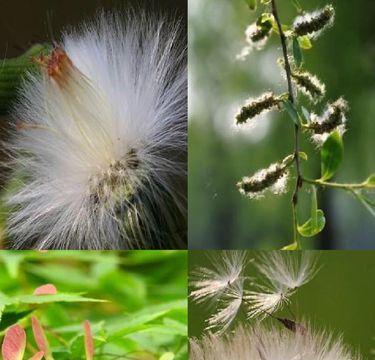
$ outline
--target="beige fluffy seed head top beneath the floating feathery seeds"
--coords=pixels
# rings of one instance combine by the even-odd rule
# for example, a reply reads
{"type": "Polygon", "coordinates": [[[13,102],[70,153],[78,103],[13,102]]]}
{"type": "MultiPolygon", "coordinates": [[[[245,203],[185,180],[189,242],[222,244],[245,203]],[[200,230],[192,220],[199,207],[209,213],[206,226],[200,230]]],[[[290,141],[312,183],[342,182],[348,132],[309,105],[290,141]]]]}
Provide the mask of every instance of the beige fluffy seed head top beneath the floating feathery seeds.
{"type": "MultiPolygon", "coordinates": [[[[307,327],[308,329],[308,327],[307,327]]],[[[207,335],[190,342],[192,360],[360,360],[328,332],[240,327],[228,337],[207,335]]]]}

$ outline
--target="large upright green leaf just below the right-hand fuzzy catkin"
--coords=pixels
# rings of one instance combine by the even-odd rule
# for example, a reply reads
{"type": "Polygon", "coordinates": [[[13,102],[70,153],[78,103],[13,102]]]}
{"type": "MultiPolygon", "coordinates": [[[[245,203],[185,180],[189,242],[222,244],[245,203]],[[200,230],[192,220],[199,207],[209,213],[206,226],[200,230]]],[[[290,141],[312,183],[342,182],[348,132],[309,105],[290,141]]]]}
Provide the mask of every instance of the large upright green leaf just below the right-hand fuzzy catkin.
{"type": "Polygon", "coordinates": [[[344,156],[344,144],[339,132],[334,131],[324,142],[321,150],[322,181],[332,178],[344,156]]]}

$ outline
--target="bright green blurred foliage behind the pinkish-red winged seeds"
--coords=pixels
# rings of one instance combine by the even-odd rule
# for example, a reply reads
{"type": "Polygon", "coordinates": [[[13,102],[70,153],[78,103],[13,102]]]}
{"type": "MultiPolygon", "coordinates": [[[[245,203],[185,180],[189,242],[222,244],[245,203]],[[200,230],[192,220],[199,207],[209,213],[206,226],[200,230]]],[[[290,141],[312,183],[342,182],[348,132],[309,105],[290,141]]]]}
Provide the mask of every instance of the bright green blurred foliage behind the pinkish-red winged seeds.
{"type": "Polygon", "coordinates": [[[79,347],[86,319],[96,340],[95,359],[187,359],[186,251],[0,251],[0,310],[4,296],[31,295],[46,283],[59,294],[107,302],[6,306],[0,344],[5,315],[32,309],[19,324],[35,348],[30,316],[37,316],[55,360],[84,358],[79,347]]]}

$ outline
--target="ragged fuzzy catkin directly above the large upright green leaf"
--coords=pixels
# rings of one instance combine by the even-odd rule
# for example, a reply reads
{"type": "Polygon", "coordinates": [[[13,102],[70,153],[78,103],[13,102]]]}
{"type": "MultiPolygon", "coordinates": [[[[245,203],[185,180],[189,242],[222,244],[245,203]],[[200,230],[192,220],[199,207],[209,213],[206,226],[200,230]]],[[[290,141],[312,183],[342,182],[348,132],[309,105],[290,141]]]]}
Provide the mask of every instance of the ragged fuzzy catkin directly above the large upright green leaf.
{"type": "Polygon", "coordinates": [[[321,116],[311,114],[311,123],[308,129],[312,130],[312,139],[317,145],[322,145],[334,130],[343,135],[346,130],[346,114],[349,111],[348,103],[341,97],[326,106],[321,116]]]}

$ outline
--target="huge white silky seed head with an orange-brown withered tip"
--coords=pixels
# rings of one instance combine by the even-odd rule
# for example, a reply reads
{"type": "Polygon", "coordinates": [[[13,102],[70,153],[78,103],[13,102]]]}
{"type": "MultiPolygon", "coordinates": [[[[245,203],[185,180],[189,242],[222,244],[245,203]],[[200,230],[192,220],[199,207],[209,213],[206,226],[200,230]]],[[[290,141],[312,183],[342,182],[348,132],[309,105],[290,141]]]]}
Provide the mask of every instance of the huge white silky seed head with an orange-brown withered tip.
{"type": "Polygon", "coordinates": [[[101,14],[39,59],[14,114],[11,247],[183,246],[186,57],[166,20],[101,14]]]}

